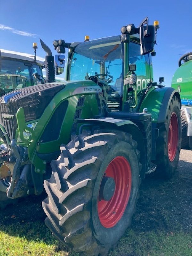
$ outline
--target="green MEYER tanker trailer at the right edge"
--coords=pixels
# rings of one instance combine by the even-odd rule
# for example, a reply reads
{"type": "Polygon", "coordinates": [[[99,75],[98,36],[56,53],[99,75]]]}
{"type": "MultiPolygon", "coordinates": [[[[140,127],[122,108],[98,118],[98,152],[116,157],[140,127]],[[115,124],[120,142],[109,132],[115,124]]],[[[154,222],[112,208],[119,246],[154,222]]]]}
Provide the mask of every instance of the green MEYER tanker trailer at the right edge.
{"type": "Polygon", "coordinates": [[[179,68],[172,78],[172,87],[181,96],[181,148],[192,147],[192,52],[179,59],[179,68]]]}

